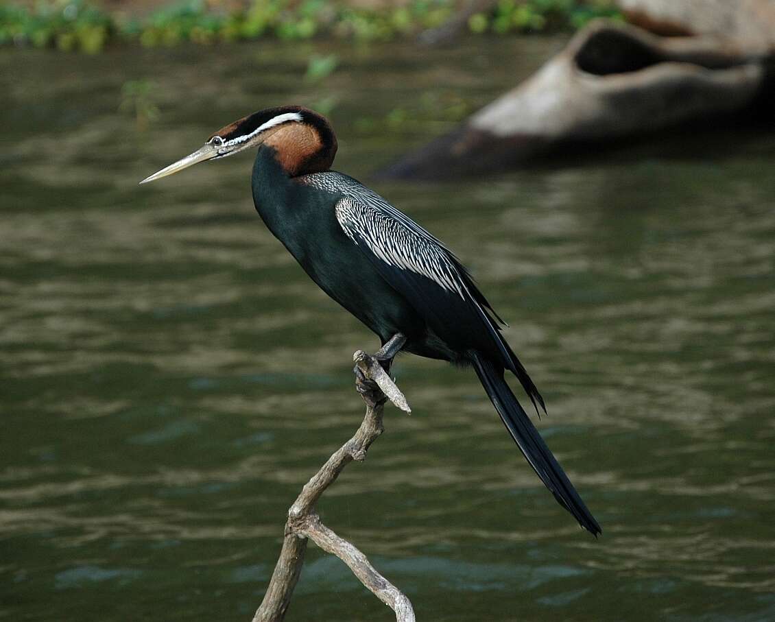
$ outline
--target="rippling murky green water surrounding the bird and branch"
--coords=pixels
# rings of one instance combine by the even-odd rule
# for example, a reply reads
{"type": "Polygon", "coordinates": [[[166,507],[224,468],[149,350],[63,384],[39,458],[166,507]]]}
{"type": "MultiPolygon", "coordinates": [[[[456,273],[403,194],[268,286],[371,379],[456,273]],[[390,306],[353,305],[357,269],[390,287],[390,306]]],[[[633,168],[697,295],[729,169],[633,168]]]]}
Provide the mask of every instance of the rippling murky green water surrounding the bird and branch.
{"type": "MultiPolygon", "coordinates": [[[[775,136],[369,179],[561,45],[319,46],[340,64],[318,83],[312,46],[0,51],[0,618],[250,620],[288,505],[362,417],[352,352],[377,342],[264,229],[250,157],[137,181],[247,112],[336,101],[336,168],[473,270],[604,534],[473,373],[411,356],[412,416],[387,410],[325,523],[418,620],[775,620],[775,136]],[[130,79],[157,83],[149,132],[116,112],[130,79]]],[[[310,547],[288,620],[391,619],[310,547]]]]}

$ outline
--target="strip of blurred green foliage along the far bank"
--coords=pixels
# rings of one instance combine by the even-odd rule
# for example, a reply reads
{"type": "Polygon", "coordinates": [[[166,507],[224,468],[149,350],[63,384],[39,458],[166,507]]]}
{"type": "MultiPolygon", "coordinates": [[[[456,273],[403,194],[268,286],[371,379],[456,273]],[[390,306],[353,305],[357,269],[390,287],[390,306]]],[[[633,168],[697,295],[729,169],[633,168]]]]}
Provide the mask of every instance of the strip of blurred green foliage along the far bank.
{"type": "MultiPolygon", "coordinates": [[[[96,53],[110,43],[143,46],[211,44],[276,37],[333,36],[387,41],[440,26],[453,16],[453,0],[412,0],[372,9],[325,0],[253,0],[235,9],[204,0],[164,5],[144,17],[113,14],[84,0],[0,5],[0,45],[56,47],[96,53]]],[[[470,16],[473,33],[532,33],[577,29],[596,17],[618,15],[608,0],[501,0],[470,16]]]]}

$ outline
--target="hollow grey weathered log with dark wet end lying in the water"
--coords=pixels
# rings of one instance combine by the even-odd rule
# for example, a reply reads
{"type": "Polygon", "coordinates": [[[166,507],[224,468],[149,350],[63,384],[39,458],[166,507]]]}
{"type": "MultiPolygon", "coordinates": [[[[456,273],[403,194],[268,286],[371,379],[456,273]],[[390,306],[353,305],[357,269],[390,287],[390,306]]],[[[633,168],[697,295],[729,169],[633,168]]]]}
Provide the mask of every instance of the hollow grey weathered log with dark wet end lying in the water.
{"type": "Polygon", "coordinates": [[[518,167],[568,146],[734,115],[773,83],[760,46],[663,38],[598,21],[560,54],[458,129],[382,170],[445,178],[518,167]]]}

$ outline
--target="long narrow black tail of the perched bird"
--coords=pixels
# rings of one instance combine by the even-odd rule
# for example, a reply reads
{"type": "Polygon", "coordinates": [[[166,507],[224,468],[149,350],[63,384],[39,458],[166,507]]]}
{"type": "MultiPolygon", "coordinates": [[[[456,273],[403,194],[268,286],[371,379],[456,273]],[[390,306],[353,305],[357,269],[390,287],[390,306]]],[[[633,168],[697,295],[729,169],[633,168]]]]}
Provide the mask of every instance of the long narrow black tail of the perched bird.
{"type": "Polygon", "coordinates": [[[552,491],[560,505],[574,515],[581,527],[595,536],[601,534],[598,521],[595,521],[591,512],[587,510],[587,506],[570,483],[560,463],[549,451],[538,430],[508,387],[503,377],[503,367],[477,354],[474,356],[474,368],[495,410],[501,415],[501,420],[512,438],[544,485],[552,491]]]}

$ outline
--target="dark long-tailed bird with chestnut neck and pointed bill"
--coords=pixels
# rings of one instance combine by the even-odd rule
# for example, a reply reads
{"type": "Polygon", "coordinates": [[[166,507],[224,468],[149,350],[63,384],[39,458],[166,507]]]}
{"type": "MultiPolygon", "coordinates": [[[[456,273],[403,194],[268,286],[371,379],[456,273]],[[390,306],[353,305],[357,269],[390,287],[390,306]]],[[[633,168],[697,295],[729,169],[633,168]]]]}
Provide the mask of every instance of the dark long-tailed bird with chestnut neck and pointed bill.
{"type": "Polygon", "coordinates": [[[516,376],[536,411],[546,411],[502,334],[505,323],[439,239],[353,177],[331,170],[337,142],[324,116],[298,105],[255,112],[140,183],[252,148],[253,202],[260,218],[325,294],[376,333],[384,368],[390,369],[398,352],[473,368],[557,502],[581,527],[601,534],[506,381],[505,373],[516,376]]]}

